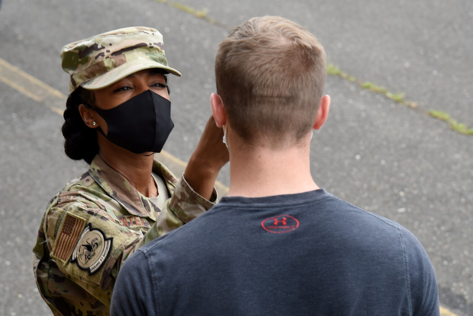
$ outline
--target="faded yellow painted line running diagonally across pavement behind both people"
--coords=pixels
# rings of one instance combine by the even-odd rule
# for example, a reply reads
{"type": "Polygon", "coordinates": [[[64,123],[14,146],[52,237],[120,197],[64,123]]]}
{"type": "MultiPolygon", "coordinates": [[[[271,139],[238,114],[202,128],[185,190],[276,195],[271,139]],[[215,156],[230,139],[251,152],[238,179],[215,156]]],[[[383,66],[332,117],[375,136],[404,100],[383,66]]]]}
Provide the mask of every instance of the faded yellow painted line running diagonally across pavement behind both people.
{"type": "MultiPolygon", "coordinates": [[[[66,102],[66,96],[60,91],[48,86],[43,81],[36,79],[35,77],[27,74],[21,69],[11,65],[9,62],[0,58],[0,81],[9,85],[11,88],[14,88],[18,92],[21,92],[26,97],[29,97],[36,102],[44,103],[48,109],[51,111],[62,115],[64,109],[59,109],[54,106],[46,104],[44,101],[48,98],[59,98],[66,102]]],[[[173,156],[169,152],[163,150],[157,154],[158,160],[164,163],[165,166],[175,172],[176,175],[181,174],[186,166],[186,163],[181,159],[173,156]]],[[[215,188],[219,192],[219,195],[226,194],[228,192],[228,187],[225,184],[222,184],[219,181],[215,182],[215,188]]],[[[458,316],[455,313],[452,313],[445,307],[440,307],[441,316],[458,316]]]]}

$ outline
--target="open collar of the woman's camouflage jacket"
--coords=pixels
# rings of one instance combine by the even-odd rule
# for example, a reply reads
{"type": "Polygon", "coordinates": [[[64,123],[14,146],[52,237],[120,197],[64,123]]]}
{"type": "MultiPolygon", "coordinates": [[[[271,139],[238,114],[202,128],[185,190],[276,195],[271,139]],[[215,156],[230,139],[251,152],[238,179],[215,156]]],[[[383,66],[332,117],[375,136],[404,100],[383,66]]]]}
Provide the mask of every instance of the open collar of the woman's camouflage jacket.
{"type": "MultiPolygon", "coordinates": [[[[166,180],[167,189],[173,194],[177,179],[172,172],[156,159],[153,162],[153,172],[163,176],[166,180]]],[[[156,216],[160,211],[159,208],[144,198],[124,176],[107,165],[98,154],[92,160],[88,173],[106,193],[131,214],[156,220],[156,216]]]]}

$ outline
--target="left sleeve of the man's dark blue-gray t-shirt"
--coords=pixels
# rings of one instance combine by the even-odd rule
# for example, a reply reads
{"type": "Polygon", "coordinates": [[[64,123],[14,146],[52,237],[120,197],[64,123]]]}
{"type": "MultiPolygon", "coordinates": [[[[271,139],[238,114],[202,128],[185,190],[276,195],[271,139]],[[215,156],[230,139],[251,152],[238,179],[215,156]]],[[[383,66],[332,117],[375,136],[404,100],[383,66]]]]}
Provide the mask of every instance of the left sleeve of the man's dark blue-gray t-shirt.
{"type": "Polygon", "coordinates": [[[123,264],[112,295],[111,316],[158,315],[150,275],[148,261],[141,251],[123,264]]]}

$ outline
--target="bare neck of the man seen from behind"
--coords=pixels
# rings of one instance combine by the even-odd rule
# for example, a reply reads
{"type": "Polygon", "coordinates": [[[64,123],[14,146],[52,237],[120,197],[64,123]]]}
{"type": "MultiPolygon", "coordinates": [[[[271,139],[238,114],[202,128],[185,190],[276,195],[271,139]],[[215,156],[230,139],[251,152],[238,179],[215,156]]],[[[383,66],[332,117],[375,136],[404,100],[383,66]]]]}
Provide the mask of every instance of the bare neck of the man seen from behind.
{"type": "Polygon", "coordinates": [[[227,196],[263,197],[317,190],[310,175],[309,146],[273,150],[264,145],[230,149],[227,196]]]}

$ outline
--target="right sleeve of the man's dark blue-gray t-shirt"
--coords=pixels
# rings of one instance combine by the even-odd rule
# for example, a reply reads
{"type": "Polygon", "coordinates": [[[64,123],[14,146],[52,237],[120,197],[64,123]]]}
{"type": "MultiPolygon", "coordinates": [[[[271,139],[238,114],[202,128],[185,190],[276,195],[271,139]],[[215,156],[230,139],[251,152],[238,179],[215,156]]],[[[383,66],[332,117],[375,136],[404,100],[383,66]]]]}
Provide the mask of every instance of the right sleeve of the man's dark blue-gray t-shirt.
{"type": "Polygon", "coordinates": [[[409,269],[413,316],[439,316],[438,286],[434,268],[419,240],[403,228],[409,269]]]}

